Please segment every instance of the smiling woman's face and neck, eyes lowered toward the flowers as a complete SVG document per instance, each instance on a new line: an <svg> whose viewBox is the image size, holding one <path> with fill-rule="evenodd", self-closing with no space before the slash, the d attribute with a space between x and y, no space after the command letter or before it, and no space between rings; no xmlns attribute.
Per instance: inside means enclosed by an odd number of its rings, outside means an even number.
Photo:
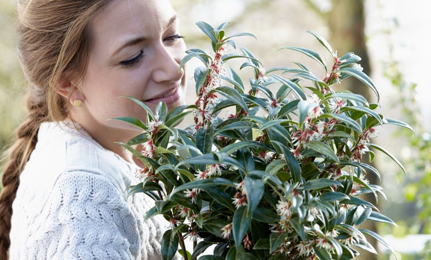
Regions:
<svg viewBox="0 0 431 260"><path fill-rule="evenodd" d="M141 100L153 111L160 101L168 109L184 104L186 80L179 64L186 47L178 24L168 0L113 0L94 17L88 67L72 94L84 105L72 115L96 140L136 130L111 118L145 121L144 110L120 96Z"/></svg>

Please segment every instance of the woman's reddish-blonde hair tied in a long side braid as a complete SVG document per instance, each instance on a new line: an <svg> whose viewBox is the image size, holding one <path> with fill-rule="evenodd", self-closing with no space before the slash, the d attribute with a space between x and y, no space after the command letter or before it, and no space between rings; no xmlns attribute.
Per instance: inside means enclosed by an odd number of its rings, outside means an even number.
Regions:
<svg viewBox="0 0 431 260"><path fill-rule="evenodd" d="M10 246L12 202L19 175L37 142L40 125L68 116L68 100L55 87L79 80L86 70L91 44L89 23L109 0L19 0L18 52L30 82L28 118L8 150L0 194L0 260Z"/></svg>

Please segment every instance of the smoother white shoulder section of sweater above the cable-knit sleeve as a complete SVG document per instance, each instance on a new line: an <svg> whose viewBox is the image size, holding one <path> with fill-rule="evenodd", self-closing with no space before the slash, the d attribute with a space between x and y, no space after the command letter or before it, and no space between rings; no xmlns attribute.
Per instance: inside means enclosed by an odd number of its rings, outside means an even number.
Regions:
<svg viewBox="0 0 431 260"><path fill-rule="evenodd" d="M74 187L83 182L83 178L90 177L93 181L110 182L125 198L125 191L131 184L132 169L84 131L67 125L44 123L39 130L36 148L21 173L15 202L33 204L37 213L56 186L67 181L70 187Z"/></svg>

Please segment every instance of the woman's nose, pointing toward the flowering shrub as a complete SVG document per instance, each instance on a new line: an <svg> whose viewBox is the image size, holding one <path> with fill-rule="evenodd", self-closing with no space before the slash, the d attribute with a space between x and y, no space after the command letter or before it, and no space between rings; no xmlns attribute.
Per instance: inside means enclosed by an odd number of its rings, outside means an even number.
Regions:
<svg viewBox="0 0 431 260"><path fill-rule="evenodd" d="M161 45L154 57L153 80L156 82L179 81L184 76L184 68L179 69L181 51Z"/></svg>

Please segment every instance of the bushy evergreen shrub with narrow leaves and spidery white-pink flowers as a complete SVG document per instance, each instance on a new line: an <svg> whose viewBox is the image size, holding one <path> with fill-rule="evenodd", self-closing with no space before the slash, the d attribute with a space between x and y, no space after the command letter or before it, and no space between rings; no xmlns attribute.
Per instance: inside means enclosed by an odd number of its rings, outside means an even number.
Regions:
<svg viewBox="0 0 431 260"><path fill-rule="evenodd" d="M265 69L233 41L253 35L227 36L227 23L216 29L197 25L214 54L192 49L181 62L203 63L194 73L196 103L170 112L160 103L153 112L131 98L146 110L146 123L118 118L143 132L122 143L145 164L138 171L142 183L129 194L154 199L145 219L162 214L170 222L163 259L172 259L178 249L185 259L197 259L210 246L213 256L199 259L351 259L358 255L355 248L376 253L367 236L393 251L381 236L361 228L366 220L394 224L360 197L383 194L367 180L379 172L362 159L373 159L374 148L404 170L372 140L376 128L386 124L411 128L385 118L377 103L361 95L332 89L353 76L378 102L377 88L358 65L361 58L337 57L319 34L308 31L331 54L332 65L310 49L283 49L316 61L323 79L301 63ZM239 53L231 53L235 50ZM243 60L239 69L251 72L249 82L241 80L238 68L227 67L232 59ZM226 109L231 112L221 116ZM189 114L194 125L175 128ZM135 144L142 151L131 147ZM184 246L187 237L194 240L193 250Z"/></svg>

